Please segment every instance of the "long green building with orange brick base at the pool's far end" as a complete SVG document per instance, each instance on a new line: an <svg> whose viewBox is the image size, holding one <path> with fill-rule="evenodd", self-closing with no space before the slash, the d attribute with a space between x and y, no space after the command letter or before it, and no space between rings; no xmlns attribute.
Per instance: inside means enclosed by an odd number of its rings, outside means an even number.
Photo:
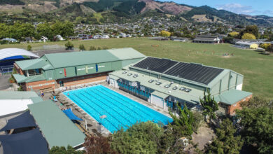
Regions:
<svg viewBox="0 0 273 154"><path fill-rule="evenodd" d="M133 48L45 54L38 59L14 63L16 83L24 90L52 91L106 80L108 73L143 59Z"/></svg>

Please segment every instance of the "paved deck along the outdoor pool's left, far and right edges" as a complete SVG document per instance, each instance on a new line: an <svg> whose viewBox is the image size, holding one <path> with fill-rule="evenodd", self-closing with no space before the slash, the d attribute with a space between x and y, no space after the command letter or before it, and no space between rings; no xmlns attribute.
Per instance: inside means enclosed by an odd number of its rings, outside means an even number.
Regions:
<svg viewBox="0 0 273 154"><path fill-rule="evenodd" d="M92 85L104 85L104 87L108 87L109 89L111 89L111 90L113 90L115 92L118 92L119 94L123 94L125 97L128 97L128 98L134 100L135 102L143 104L144 106L147 106L147 107L149 107L149 108L151 108L151 109L153 109L155 111L158 111L158 112L164 114L165 116L169 116L169 113L167 111L164 111L163 109L160 109L158 106L150 104L149 102L146 102L143 99L140 99L139 97L135 97L132 94L124 92L123 90L119 90L117 88L111 87L105 81L99 82L99 83L92 83L92 84L87 85L87 87L92 86ZM78 88L81 88L81 87L85 87L85 86L79 85L79 86L71 87L71 88L73 90L73 89L78 89ZM71 108L73 113L76 116L83 119L83 121L79 121L79 123L80 123L80 125L82 127L87 126L86 130L88 132L90 132L90 134L97 134L97 135L102 134L102 136L104 136L104 137L107 137L107 136L109 136L109 134L111 134L111 132L109 132L109 130L107 130L104 126L99 125L97 120L94 120L94 118L92 118L92 116L90 116L85 111L83 111L83 109L80 109L79 106L77 106L73 101L71 101L71 99L66 97L61 91L59 91L57 93L58 93L57 99L59 101L55 102L55 103L59 106L59 108L60 109ZM61 102L62 102L62 104L61 104ZM85 125L85 120L86 120L87 125Z"/></svg>

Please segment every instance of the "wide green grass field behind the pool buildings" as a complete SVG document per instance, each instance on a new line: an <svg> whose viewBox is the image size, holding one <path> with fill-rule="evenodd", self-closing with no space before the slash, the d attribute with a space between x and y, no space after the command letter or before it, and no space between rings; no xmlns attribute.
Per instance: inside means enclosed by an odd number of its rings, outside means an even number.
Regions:
<svg viewBox="0 0 273 154"><path fill-rule="evenodd" d="M31 43L35 49L42 45L64 45L66 42ZM132 47L144 55L165 57L181 62L195 62L209 66L232 69L244 75L243 90L254 95L273 99L273 56L262 55L254 50L233 48L230 44L181 43L176 41L152 41L147 38L113 38L107 40L72 41L78 48L81 43L85 48L90 45L125 48ZM27 43L0 45L0 48L27 48ZM234 56L223 56L228 53Z"/></svg>

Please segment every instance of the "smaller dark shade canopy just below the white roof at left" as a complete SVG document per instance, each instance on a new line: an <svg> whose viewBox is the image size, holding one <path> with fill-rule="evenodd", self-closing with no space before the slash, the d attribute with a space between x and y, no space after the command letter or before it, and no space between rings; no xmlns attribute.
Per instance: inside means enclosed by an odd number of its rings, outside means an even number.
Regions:
<svg viewBox="0 0 273 154"><path fill-rule="evenodd" d="M20 116L8 120L8 123L6 124L5 127L3 127L0 130L0 132L5 130L31 126L33 127L36 126L36 123L34 122L34 118L30 115L29 111L27 111L25 113L22 113Z"/></svg>

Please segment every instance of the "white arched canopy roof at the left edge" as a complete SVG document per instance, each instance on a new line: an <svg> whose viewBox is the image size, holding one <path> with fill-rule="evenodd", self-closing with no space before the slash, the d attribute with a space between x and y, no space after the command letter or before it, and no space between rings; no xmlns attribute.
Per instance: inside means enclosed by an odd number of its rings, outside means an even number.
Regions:
<svg viewBox="0 0 273 154"><path fill-rule="evenodd" d="M26 56L38 58L38 55L35 55L32 52L29 52L27 50L20 49L20 48L4 48L0 50L0 60L5 59L7 57L13 57L18 55L26 55Z"/></svg>

